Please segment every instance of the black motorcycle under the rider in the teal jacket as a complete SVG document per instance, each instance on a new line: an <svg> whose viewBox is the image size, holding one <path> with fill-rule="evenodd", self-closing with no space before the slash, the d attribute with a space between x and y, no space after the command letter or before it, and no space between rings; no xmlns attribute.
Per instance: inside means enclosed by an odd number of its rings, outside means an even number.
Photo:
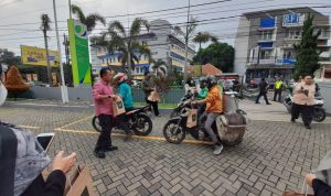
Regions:
<svg viewBox="0 0 331 196"><path fill-rule="evenodd" d="M127 124L130 130L135 132L137 135L148 135L152 131L153 123L147 112L151 110L151 106L145 106L142 108L138 108L131 111L128 111L125 113L127 121ZM92 126L93 128L100 132L102 127L99 124L98 118L95 116L92 119ZM120 128L115 128L120 129Z"/></svg>

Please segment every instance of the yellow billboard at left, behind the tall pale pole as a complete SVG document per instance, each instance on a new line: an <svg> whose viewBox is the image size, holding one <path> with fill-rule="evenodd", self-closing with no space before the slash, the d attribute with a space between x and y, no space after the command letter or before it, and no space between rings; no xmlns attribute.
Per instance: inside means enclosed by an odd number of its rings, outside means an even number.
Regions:
<svg viewBox="0 0 331 196"><path fill-rule="evenodd" d="M24 65L47 66L46 50L21 45L21 58ZM51 66L58 66L60 53L49 50Z"/></svg>

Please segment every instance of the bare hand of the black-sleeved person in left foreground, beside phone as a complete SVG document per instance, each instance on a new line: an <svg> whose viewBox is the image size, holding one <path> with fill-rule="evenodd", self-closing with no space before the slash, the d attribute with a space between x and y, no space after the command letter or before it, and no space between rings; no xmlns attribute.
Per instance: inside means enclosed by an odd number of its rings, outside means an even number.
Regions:
<svg viewBox="0 0 331 196"><path fill-rule="evenodd" d="M53 161L53 171L60 170L64 174L68 173L76 162L76 153L72 153L68 156L63 156L64 151L58 152Z"/></svg>

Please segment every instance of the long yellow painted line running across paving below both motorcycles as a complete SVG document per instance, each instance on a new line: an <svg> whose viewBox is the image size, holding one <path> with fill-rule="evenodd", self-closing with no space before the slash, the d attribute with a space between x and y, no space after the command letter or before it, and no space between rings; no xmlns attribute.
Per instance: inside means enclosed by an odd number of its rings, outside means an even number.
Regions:
<svg viewBox="0 0 331 196"><path fill-rule="evenodd" d="M72 132L72 133L87 133L87 134L98 134L96 131L87 131L87 130L72 130L72 129L54 129L55 131L61 131L61 132ZM114 137L125 137L125 134L121 133L111 133ZM143 140L158 140L158 141L166 141L164 138L162 137L139 137L139 135L132 135L132 138L137 139L143 139ZM199 141L199 140L184 140L184 143L191 143L191 144L206 144L211 145L212 142L209 141Z"/></svg>

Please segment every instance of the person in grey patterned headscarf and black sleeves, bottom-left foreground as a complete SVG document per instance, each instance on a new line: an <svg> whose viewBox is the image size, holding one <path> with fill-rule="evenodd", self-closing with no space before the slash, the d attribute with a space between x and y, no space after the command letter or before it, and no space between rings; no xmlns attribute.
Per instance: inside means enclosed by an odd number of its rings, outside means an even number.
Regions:
<svg viewBox="0 0 331 196"><path fill-rule="evenodd" d="M0 122L0 195L63 196L65 174L76 162L76 153L64 156L61 151L53 161L52 172L44 181L42 171L51 159L32 132Z"/></svg>

